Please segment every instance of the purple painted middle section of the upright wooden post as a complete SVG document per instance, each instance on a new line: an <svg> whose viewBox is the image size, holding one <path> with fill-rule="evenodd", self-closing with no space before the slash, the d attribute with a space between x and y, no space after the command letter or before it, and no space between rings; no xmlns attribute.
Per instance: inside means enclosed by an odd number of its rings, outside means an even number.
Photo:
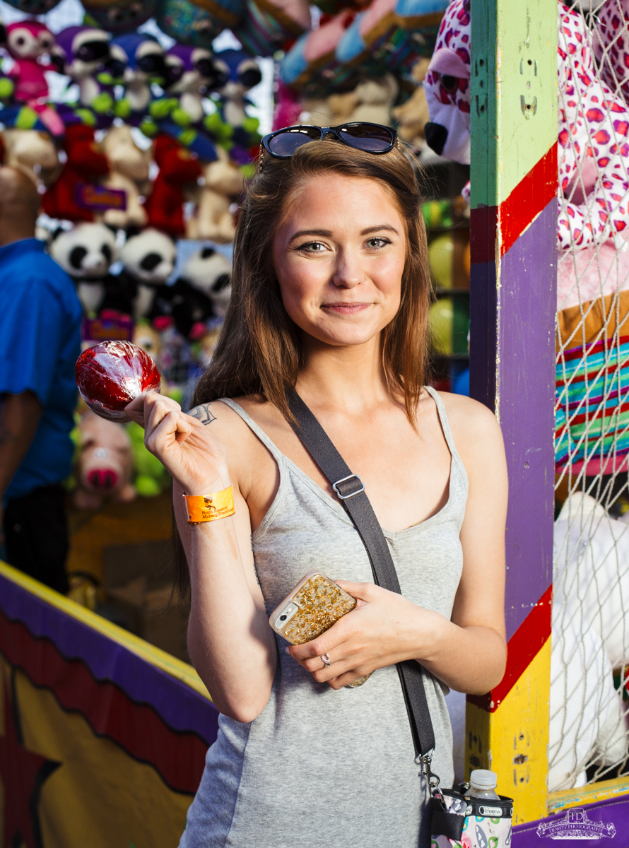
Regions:
<svg viewBox="0 0 629 848"><path fill-rule="evenodd" d="M496 410L509 466L507 639L553 579L556 232L553 199L498 275L470 275L470 394Z"/></svg>

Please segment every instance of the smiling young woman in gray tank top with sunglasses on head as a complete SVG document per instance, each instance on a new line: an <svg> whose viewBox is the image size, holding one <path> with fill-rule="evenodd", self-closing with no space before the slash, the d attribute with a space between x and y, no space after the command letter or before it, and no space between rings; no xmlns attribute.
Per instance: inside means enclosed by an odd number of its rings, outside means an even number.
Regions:
<svg viewBox="0 0 629 848"><path fill-rule="evenodd" d="M504 672L502 439L481 404L423 388L426 232L393 132L264 142L198 405L184 415L149 393L128 407L175 481L190 656L221 713L181 846L417 848L430 845L426 778L395 663L430 672L433 770L451 786L447 688L485 693ZM365 483L402 595L374 585L293 432L292 387ZM230 486L233 517L188 525L183 494ZM268 616L314 570L359 603L287 648Z"/></svg>

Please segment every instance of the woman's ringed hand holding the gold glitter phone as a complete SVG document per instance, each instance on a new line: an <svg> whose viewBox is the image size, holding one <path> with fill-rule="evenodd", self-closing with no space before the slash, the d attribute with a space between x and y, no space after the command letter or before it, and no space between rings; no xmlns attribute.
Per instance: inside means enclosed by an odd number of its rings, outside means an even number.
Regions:
<svg viewBox="0 0 629 848"><path fill-rule="evenodd" d="M329 683L332 689L397 662L430 660L432 647L453 626L439 613L373 583L335 583L356 598L356 607L317 639L286 649L318 683ZM324 654L329 667L321 660Z"/></svg>

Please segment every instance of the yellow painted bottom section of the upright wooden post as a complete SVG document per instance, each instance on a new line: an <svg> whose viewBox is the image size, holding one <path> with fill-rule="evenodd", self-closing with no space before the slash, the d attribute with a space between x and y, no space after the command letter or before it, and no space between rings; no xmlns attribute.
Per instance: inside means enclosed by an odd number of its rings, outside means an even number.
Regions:
<svg viewBox="0 0 629 848"><path fill-rule="evenodd" d="M515 801L514 823L547 815L550 639L495 712L468 703L465 777L498 775L498 793Z"/></svg>

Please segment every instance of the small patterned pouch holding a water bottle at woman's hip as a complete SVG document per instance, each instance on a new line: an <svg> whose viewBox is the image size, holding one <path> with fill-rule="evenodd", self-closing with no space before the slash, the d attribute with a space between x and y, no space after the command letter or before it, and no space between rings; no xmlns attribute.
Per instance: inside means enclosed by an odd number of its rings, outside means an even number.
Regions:
<svg viewBox="0 0 629 848"><path fill-rule="evenodd" d="M475 798L454 789L439 789L432 796L432 829L439 826L440 817L454 813L462 819L458 838L433 836L431 848L509 848L513 799L500 795L499 801ZM450 819L451 820L451 819Z"/></svg>

